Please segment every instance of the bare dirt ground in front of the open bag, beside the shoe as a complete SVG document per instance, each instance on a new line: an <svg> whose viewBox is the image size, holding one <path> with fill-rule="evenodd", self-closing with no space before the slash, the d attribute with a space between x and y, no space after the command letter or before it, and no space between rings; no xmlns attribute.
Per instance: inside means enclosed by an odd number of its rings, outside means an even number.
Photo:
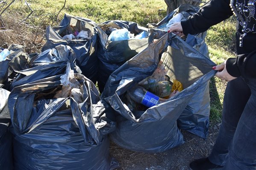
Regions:
<svg viewBox="0 0 256 170"><path fill-rule="evenodd" d="M209 155L220 125L220 123L211 123L206 139L182 130L185 144L163 153L138 153L111 143L110 153L118 159L120 164L120 167L115 170L188 170L191 161Z"/></svg>

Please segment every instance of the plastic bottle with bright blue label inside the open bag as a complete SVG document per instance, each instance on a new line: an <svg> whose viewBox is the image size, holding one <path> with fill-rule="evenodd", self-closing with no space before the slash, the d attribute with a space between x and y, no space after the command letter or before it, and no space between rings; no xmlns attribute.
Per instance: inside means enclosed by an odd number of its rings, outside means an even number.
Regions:
<svg viewBox="0 0 256 170"><path fill-rule="evenodd" d="M132 100L141 103L148 108L166 101L166 99L162 99L159 96L150 93L141 86L135 86L134 88L130 89L128 93Z"/></svg>

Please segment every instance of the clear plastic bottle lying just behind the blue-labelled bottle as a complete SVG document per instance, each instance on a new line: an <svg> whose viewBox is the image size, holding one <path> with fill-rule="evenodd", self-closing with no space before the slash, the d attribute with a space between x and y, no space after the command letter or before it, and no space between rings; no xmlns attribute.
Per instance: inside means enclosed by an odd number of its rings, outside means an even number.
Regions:
<svg viewBox="0 0 256 170"><path fill-rule="evenodd" d="M171 94L171 85L168 81L161 81L161 82L153 82L147 85L141 85L146 90L150 91L156 96L165 97L170 96Z"/></svg>

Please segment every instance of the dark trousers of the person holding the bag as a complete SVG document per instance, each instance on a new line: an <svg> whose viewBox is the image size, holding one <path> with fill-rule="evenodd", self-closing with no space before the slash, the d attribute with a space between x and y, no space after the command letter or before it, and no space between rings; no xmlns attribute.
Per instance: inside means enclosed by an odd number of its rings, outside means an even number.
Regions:
<svg viewBox="0 0 256 170"><path fill-rule="evenodd" d="M223 170L256 170L256 79L227 83L222 124L209 160Z"/></svg>

